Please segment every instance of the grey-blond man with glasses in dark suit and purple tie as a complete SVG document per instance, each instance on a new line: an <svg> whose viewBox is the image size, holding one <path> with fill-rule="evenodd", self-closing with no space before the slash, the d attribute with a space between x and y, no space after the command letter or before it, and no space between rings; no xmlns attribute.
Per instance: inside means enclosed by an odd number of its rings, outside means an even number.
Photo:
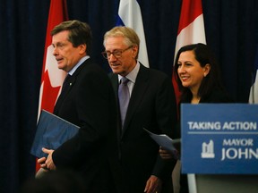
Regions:
<svg viewBox="0 0 258 193"><path fill-rule="evenodd" d="M143 128L173 137L176 125L176 98L171 79L161 71L146 68L137 61L140 40L133 29L115 27L104 36L105 52L113 74L110 75L122 116L117 130L119 158L125 192L173 192L171 172L175 160L159 156L159 145ZM126 84L121 80L126 78ZM121 85L129 90L126 105L118 96ZM126 96L123 96L124 100ZM124 122L125 119L125 122Z"/></svg>

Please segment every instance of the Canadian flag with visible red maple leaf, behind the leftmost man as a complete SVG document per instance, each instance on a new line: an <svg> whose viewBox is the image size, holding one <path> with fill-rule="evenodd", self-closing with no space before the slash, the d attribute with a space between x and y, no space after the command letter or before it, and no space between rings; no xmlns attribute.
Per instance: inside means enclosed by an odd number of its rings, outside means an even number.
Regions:
<svg viewBox="0 0 258 193"><path fill-rule="evenodd" d="M66 0L51 0L48 13L45 53L39 91L38 119L42 109L53 113L56 99L60 94L60 88L64 81L66 73L57 68L56 59L54 55L52 55L53 46L50 31L54 29L57 24L67 20L68 14ZM36 170L39 170L39 165L36 165Z"/></svg>

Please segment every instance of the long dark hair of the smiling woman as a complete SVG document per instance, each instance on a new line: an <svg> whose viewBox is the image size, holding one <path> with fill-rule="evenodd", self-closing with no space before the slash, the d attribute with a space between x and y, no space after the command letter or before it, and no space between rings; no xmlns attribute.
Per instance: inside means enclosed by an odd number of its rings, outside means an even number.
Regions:
<svg viewBox="0 0 258 193"><path fill-rule="evenodd" d="M186 51L193 51L193 54L195 56L195 59L200 63L202 67L204 67L207 63L211 65L211 70L209 74L203 78L201 86L198 90L198 96L205 97L209 96L211 94L211 91L214 87L216 88L223 88L221 79L220 79L220 73L219 73L219 65L215 59L215 56L211 52L211 49L209 46L204 44L192 44L183 46L179 49L179 51L176 54L176 60L175 60L175 67L174 67L174 76L178 85L178 88L181 91L181 101L185 100L186 98L192 98L192 93L189 88L185 88L182 85L181 80L179 79L177 69L178 69L178 59L181 53ZM224 88L223 88L224 89Z"/></svg>

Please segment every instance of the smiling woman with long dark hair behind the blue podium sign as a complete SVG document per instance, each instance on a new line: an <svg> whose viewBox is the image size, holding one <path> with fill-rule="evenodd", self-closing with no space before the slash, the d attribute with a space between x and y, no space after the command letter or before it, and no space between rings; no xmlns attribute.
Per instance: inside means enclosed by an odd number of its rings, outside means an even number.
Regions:
<svg viewBox="0 0 258 193"><path fill-rule="evenodd" d="M210 48L204 44L183 46L176 55L174 76L181 92L180 104L190 103L232 103L222 86L219 65ZM180 126L177 127L176 138L180 138ZM167 150L159 148L163 159L173 156ZM188 192L185 174L180 177L180 193Z"/></svg>

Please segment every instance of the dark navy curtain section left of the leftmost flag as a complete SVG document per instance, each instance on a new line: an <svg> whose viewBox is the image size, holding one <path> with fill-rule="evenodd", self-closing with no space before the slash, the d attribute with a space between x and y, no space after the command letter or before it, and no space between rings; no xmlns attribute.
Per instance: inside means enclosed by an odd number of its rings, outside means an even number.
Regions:
<svg viewBox="0 0 258 193"><path fill-rule="evenodd" d="M49 1L0 1L0 192L17 192L35 168L29 149L37 122Z"/></svg>

